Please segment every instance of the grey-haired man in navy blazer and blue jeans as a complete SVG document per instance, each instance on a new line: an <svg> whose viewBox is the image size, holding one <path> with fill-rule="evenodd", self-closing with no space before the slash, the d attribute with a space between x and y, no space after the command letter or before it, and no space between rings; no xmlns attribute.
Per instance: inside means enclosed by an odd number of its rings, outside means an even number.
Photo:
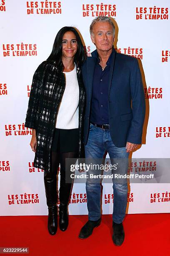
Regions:
<svg viewBox="0 0 170 256"><path fill-rule="evenodd" d="M92 20L90 35L96 50L82 67L86 90L85 157L102 159L107 151L110 159L128 159L129 152L141 144L145 119L145 97L138 60L119 54L113 48L115 26L111 18ZM127 161L124 163L121 174L128 170ZM89 220L82 227L79 238L90 236L93 228L101 222L100 183L87 179L86 192ZM123 243L125 236L122 221L127 192L126 179L113 183L112 240L117 246Z"/></svg>

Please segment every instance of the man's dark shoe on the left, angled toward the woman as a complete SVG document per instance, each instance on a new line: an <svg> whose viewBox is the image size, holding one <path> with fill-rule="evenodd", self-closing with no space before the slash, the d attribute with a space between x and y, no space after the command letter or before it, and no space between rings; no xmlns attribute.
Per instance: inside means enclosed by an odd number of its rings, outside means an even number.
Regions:
<svg viewBox="0 0 170 256"><path fill-rule="evenodd" d="M101 218L99 220L88 220L87 223L80 230L79 238L84 239L92 234L95 227L98 227L101 223Z"/></svg>

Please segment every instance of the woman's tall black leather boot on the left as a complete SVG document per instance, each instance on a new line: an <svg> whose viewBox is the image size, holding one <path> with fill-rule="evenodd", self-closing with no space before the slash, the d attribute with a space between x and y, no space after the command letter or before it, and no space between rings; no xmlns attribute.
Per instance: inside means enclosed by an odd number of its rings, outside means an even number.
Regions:
<svg viewBox="0 0 170 256"><path fill-rule="evenodd" d="M48 206L48 231L50 235L57 232L57 177L44 173L45 195Z"/></svg>

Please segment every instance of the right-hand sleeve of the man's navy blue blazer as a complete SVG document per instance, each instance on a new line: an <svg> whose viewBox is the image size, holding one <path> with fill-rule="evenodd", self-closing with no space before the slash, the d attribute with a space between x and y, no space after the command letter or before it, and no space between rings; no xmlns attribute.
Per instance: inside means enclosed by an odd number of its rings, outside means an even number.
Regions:
<svg viewBox="0 0 170 256"><path fill-rule="evenodd" d="M130 92L132 98L133 118L128 131L127 141L142 143L143 123L145 120L145 94L138 60L134 59L130 75Z"/></svg>

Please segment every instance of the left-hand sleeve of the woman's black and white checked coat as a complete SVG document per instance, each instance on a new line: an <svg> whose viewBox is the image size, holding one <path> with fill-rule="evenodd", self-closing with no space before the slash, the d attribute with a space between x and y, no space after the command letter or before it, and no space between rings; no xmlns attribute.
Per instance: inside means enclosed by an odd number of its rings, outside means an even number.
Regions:
<svg viewBox="0 0 170 256"><path fill-rule="evenodd" d="M42 64L40 64L33 75L30 98L28 102L28 110L25 120L25 127L32 129L36 129L38 102L41 88L41 68Z"/></svg>

